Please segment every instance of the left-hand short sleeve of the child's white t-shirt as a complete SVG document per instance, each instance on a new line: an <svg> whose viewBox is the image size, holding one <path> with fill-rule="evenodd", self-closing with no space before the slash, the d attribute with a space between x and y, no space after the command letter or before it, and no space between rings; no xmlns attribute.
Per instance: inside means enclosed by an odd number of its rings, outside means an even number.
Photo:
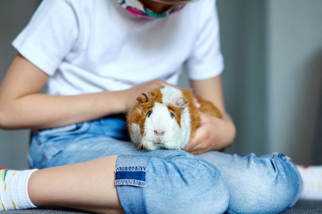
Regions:
<svg viewBox="0 0 322 214"><path fill-rule="evenodd" d="M78 34L73 6L64 0L43 0L12 45L32 64L53 75Z"/></svg>

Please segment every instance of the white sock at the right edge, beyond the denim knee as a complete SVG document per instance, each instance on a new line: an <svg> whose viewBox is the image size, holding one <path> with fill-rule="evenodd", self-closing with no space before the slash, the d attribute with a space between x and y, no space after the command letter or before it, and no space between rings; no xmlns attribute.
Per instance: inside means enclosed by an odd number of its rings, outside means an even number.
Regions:
<svg viewBox="0 0 322 214"><path fill-rule="evenodd" d="M296 166L303 181L300 199L322 200L322 166Z"/></svg>

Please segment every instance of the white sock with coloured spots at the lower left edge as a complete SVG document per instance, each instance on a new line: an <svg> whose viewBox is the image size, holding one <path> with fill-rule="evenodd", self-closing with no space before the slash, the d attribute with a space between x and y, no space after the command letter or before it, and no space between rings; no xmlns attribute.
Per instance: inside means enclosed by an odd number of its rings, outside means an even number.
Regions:
<svg viewBox="0 0 322 214"><path fill-rule="evenodd" d="M30 170L0 170L0 210L35 208L28 196Z"/></svg>

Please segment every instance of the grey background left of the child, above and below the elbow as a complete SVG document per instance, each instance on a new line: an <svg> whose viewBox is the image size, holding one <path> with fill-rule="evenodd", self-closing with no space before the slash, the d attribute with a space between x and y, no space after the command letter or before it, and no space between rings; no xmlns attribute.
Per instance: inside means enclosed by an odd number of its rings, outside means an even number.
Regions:
<svg viewBox="0 0 322 214"><path fill-rule="evenodd" d="M14 37L28 23L39 1L5 0L0 1L0 81L17 54L11 46ZM0 165L24 169L28 167L28 130L0 129Z"/></svg>

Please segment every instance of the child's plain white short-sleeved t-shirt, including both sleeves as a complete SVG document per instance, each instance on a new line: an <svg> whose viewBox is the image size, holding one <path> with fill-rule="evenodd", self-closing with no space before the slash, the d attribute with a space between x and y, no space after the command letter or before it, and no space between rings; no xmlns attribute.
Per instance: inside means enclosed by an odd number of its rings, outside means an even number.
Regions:
<svg viewBox="0 0 322 214"><path fill-rule="evenodd" d="M44 0L13 46L47 73L48 93L124 90L160 79L204 80L223 70L216 1L149 20L116 0Z"/></svg>

